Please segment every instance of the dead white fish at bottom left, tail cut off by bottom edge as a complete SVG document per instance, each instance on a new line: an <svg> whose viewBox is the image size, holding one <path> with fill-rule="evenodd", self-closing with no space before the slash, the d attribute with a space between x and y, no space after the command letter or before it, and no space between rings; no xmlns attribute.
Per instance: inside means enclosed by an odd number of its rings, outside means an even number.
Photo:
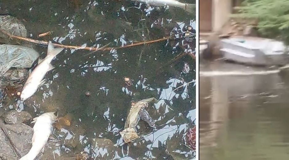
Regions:
<svg viewBox="0 0 289 160"><path fill-rule="evenodd" d="M35 122L33 126L32 147L30 151L19 160L34 160L43 150L47 140L52 133L52 124L56 121L57 112L47 112L39 117L33 118Z"/></svg>

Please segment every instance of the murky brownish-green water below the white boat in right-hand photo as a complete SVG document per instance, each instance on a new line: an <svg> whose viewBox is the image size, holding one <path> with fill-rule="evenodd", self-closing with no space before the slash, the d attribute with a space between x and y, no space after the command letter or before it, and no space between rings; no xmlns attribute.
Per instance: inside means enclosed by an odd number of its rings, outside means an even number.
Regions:
<svg viewBox="0 0 289 160"><path fill-rule="evenodd" d="M245 76L209 76L208 71ZM200 159L287 159L288 73L224 62L200 66ZM219 72L221 73L221 72Z"/></svg>

